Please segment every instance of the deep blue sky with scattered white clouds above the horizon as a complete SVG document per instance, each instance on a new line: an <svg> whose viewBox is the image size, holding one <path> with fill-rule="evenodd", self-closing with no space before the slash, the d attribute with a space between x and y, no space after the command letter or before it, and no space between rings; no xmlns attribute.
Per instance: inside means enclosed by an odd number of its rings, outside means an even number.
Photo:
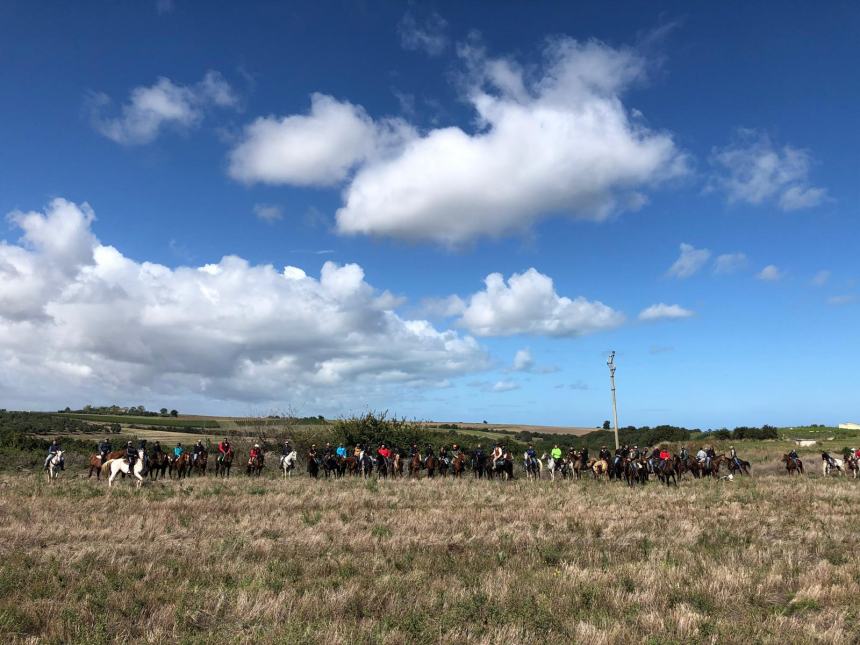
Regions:
<svg viewBox="0 0 860 645"><path fill-rule="evenodd" d="M860 10L577 4L3 3L0 405L856 419Z"/></svg>

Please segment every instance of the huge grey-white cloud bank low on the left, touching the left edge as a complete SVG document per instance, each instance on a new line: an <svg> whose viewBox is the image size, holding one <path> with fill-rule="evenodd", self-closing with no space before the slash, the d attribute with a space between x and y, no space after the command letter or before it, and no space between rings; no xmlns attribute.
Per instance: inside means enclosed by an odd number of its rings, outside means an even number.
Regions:
<svg viewBox="0 0 860 645"><path fill-rule="evenodd" d="M236 256L170 268L100 243L86 205L57 199L11 220L23 236L0 244L7 400L361 405L378 388L488 365L472 337L399 316L356 264L326 262L319 277Z"/></svg>

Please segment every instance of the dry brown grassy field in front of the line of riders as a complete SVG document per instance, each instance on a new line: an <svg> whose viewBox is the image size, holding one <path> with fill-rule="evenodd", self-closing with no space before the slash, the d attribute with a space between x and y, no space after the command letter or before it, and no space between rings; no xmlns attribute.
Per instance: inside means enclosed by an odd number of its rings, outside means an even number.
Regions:
<svg viewBox="0 0 860 645"><path fill-rule="evenodd" d="M0 474L0 642L856 643L860 480ZM718 446L718 449L727 446Z"/></svg>

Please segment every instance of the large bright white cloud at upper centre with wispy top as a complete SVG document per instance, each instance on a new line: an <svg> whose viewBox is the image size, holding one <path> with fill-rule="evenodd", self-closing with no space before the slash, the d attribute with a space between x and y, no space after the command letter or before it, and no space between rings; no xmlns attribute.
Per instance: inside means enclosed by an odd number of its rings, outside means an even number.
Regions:
<svg viewBox="0 0 860 645"><path fill-rule="evenodd" d="M231 175L345 181L339 232L456 245L523 230L550 214L602 220L635 210L646 191L687 172L672 137L622 102L645 76L633 50L559 38L533 73L476 47L462 47L461 56L472 130L419 133L315 95L309 115L248 126L231 154Z"/></svg>

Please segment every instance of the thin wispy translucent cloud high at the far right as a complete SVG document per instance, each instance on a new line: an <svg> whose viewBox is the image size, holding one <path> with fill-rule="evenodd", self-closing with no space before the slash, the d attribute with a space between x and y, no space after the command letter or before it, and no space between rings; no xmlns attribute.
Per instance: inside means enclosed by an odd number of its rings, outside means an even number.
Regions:
<svg viewBox="0 0 860 645"><path fill-rule="evenodd" d="M828 199L827 190L810 184L812 157L789 145L776 147L764 134L741 130L738 140L713 151L710 187L730 203L775 203L786 211L812 208Z"/></svg>

